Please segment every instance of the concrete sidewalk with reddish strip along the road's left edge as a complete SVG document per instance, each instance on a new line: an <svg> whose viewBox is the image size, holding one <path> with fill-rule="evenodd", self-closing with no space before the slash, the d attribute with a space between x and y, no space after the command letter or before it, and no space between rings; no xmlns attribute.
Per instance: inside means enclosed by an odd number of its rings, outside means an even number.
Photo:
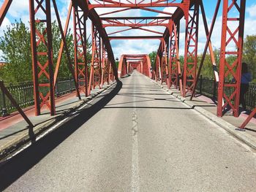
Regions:
<svg viewBox="0 0 256 192"><path fill-rule="evenodd" d="M91 95L86 97L81 94L81 100L75 96L75 93L69 93L67 96L62 96L60 99L56 99L56 115L50 116L49 111L44 108L42 115L34 115L34 107L25 109L25 113L28 116L34 128L28 127L28 124L23 120L22 116L15 112L9 117L0 119L0 161L7 158L8 155L19 149L27 142L31 142L34 137L42 134L48 130L51 126L64 119L70 113L77 110L83 104L93 99L102 91L105 91L116 82L112 82L110 85L103 85L102 89L94 89L91 91ZM33 142L33 141L32 141Z"/></svg>

